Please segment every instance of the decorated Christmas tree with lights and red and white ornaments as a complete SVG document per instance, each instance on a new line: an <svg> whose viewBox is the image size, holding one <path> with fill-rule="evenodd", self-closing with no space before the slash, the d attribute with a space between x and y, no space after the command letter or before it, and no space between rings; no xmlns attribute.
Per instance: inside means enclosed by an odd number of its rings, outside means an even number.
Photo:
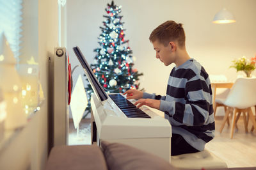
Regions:
<svg viewBox="0 0 256 170"><path fill-rule="evenodd" d="M102 33L99 36L100 47L94 51L97 53L95 64L90 65L98 81L108 93L124 93L128 89L138 89L139 76L134 65L132 50L129 47L129 40L125 40L124 22L120 16L122 6L116 6L112 1L105 9L107 15L103 21ZM90 112L90 97L93 93L92 86L86 88L88 107L86 113ZM86 114L86 115L87 115Z"/></svg>

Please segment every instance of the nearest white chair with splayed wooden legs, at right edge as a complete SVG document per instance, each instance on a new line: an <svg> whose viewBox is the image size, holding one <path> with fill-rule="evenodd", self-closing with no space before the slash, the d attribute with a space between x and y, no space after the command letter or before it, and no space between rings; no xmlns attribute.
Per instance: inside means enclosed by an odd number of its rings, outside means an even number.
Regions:
<svg viewBox="0 0 256 170"><path fill-rule="evenodd" d="M256 128L256 121L251 109L251 107L256 105L256 78L237 79L223 104L226 105L228 109L225 113L220 132L222 132L229 114L233 114L230 138L233 138L234 127L241 114L243 114L244 128L246 132L248 132L249 120L252 121L253 127Z"/></svg>

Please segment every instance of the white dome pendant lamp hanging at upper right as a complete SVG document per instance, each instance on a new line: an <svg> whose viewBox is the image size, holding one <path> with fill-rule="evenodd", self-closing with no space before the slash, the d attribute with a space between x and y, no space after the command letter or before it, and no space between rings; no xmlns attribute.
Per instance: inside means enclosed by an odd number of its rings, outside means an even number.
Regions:
<svg viewBox="0 0 256 170"><path fill-rule="evenodd" d="M223 8L220 12L216 13L212 22L214 24L228 24L236 22L236 19L232 13Z"/></svg>

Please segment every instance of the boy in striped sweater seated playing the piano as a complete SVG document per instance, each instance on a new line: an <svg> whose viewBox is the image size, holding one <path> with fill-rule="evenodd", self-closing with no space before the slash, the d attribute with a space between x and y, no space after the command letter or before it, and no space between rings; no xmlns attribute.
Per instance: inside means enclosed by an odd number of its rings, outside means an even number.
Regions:
<svg viewBox="0 0 256 170"><path fill-rule="evenodd" d="M214 137L211 82L204 68L191 59L185 47L182 24L168 20L150 34L156 58L164 65L175 63L170 73L166 96L125 91L127 99L139 99L134 105L159 109L172 125L171 155L204 150Z"/></svg>

